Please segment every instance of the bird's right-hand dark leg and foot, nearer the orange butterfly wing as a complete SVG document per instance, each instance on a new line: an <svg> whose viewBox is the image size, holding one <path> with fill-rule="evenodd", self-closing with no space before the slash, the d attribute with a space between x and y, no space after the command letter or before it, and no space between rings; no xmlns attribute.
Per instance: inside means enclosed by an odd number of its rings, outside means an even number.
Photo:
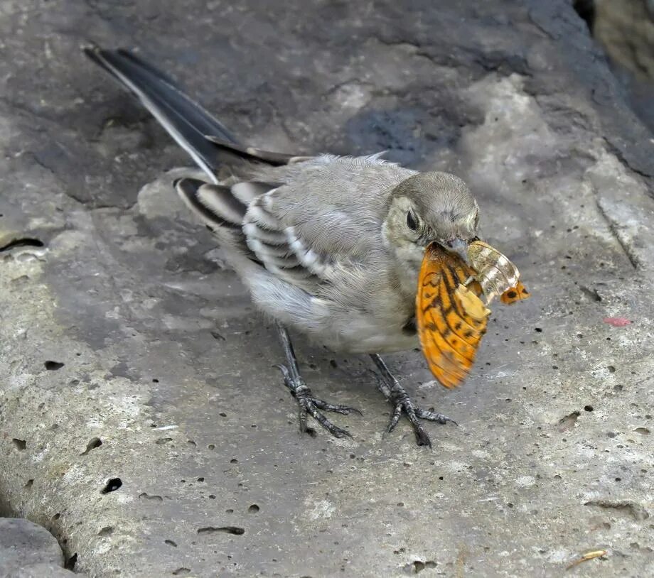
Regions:
<svg viewBox="0 0 654 578"><path fill-rule="evenodd" d="M402 410L407 415L409 422L413 427L413 431L416 435L416 442L418 445L428 445L431 447L431 440L429 435L424 431L421 423L418 420L429 420L432 422L447 423L452 422L456 425L456 422L451 418L448 418L442 413L434 413L431 411L423 410L419 408L413 400L409 397L409 394L404 391L404 388L400 386L400 382L397 381L395 376L389 371L388 367L384 363L384 360L378 354L370 354L372 361L375 362L377 369L379 369L382 374L379 383L380 391L384 394L385 398L393 404L393 415L390 418L390 423L386 428L386 432L390 433L395 429L397 422L400 421L400 416L402 415Z"/></svg>

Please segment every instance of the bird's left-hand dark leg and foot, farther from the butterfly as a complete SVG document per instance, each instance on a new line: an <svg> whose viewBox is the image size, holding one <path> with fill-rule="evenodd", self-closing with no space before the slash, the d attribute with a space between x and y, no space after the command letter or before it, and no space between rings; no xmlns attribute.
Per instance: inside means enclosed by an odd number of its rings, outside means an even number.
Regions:
<svg viewBox="0 0 654 578"><path fill-rule="evenodd" d="M309 414L311 417L316 420L322 427L324 427L331 435L336 437L348 436L352 437L352 434L347 430L341 429L337 425L334 425L329 421L321 412L323 411L334 411L336 413L343 413L348 415L350 411L355 411L358 414L361 412L358 409L350 408L348 405L337 405L334 403L327 403L321 399L318 399L313 396L309 386L306 385L304 379L300 376L300 371L297 366L297 359L295 356L295 351L293 350L293 344L291 344L291 337L289 332L286 331L286 327L283 325L277 324L277 329L279 331L279 337L282 339L282 347L284 347L284 354L286 354L286 366L278 365L280 371L282 371L282 376L284 376L284 383L286 387L291 390L294 398L296 398L299 406L299 421L300 421L300 431L309 432L311 431L306 425L306 416Z"/></svg>

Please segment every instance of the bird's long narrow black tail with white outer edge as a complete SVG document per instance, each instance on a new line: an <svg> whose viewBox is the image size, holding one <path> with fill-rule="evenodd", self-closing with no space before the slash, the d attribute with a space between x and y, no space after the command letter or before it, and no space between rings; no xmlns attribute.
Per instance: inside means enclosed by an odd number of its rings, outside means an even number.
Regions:
<svg viewBox="0 0 654 578"><path fill-rule="evenodd" d="M194 102L163 72L128 50L85 48L86 55L107 70L161 123L171 136L216 180L220 148L205 136L236 144L236 139L220 121Z"/></svg>

